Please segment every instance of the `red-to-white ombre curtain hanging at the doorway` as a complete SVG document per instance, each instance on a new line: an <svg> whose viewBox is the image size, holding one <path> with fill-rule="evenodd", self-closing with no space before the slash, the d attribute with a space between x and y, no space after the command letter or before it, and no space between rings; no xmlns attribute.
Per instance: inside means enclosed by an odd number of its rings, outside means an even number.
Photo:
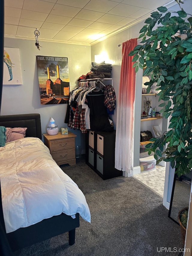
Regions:
<svg viewBox="0 0 192 256"><path fill-rule="evenodd" d="M122 65L117 105L115 168L125 171L124 176L133 174L133 140L134 140L134 100L135 68L132 68L134 56L128 54L137 45L137 38L122 43Z"/></svg>

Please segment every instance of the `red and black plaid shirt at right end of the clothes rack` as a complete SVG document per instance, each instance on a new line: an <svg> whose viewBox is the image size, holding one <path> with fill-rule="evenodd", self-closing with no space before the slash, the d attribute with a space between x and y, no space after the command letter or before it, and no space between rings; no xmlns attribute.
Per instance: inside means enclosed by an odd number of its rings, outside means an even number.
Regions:
<svg viewBox="0 0 192 256"><path fill-rule="evenodd" d="M112 85L109 84L105 86L104 95L105 107L107 107L110 111L114 110L116 105L116 95Z"/></svg>

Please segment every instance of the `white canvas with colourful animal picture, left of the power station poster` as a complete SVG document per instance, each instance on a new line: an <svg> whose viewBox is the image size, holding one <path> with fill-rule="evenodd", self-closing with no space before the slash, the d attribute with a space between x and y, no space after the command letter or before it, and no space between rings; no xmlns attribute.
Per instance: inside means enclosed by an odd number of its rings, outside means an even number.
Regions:
<svg viewBox="0 0 192 256"><path fill-rule="evenodd" d="M3 62L3 85L21 85L19 49L4 47Z"/></svg>

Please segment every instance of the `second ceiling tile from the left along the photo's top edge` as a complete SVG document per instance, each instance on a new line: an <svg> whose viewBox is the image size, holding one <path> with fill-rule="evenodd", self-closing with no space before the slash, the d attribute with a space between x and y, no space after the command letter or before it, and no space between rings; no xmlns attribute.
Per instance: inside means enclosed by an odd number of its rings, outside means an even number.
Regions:
<svg viewBox="0 0 192 256"><path fill-rule="evenodd" d="M23 4L23 9L29 11L38 11L42 13L50 13L54 5L54 3L45 3L44 1L39 0L25 0Z"/></svg>

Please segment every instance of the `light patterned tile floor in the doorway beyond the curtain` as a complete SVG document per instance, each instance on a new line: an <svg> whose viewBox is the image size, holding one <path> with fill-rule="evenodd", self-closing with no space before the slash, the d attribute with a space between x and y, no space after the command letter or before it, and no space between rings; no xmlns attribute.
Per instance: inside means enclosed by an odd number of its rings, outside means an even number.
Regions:
<svg viewBox="0 0 192 256"><path fill-rule="evenodd" d="M134 175L134 178L140 180L153 191L155 191L155 193L163 197L165 183L165 167L157 165L155 170L136 174Z"/></svg>

